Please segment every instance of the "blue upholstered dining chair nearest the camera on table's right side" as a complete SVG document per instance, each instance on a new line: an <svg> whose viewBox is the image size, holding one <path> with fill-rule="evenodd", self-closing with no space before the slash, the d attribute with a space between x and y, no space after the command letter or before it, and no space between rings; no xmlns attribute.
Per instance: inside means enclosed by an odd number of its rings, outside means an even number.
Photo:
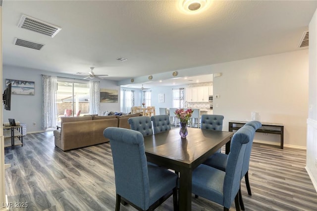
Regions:
<svg viewBox="0 0 317 211"><path fill-rule="evenodd" d="M233 200L240 211L239 190L247 144L252 141L254 128L244 126L232 137L226 171L201 164L192 175L192 192L223 206L228 211Z"/></svg>

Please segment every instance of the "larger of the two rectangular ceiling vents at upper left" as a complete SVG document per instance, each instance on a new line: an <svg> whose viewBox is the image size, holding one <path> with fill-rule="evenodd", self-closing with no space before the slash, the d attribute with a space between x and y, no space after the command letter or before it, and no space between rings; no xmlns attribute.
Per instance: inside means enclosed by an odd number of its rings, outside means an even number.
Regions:
<svg viewBox="0 0 317 211"><path fill-rule="evenodd" d="M54 37L61 30L61 28L58 26L54 26L50 23L46 23L26 15L22 15L18 27L38 32L50 37Z"/></svg>

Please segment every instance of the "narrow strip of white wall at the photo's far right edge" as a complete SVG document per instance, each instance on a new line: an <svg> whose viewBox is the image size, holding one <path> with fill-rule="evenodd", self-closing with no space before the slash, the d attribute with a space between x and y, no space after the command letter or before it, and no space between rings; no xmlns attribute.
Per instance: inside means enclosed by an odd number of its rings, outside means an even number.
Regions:
<svg viewBox="0 0 317 211"><path fill-rule="evenodd" d="M317 191L317 10L309 24L309 107L306 169Z"/></svg>

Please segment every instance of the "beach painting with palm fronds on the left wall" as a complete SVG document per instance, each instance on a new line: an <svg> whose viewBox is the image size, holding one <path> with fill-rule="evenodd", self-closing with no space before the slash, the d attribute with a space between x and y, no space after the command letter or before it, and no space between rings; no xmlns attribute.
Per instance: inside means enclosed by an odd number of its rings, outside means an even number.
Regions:
<svg viewBox="0 0 317 211"><path fill-rule="evenodd" d="M5 86L11 84L12 95L35 95L34 81L5 79Z"/></svg>

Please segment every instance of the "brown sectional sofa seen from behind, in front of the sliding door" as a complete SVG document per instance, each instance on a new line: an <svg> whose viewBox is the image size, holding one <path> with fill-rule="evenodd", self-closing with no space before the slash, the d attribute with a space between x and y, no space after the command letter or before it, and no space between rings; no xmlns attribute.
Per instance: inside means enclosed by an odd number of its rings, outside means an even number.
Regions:
<svg viewBox="0 0 317 211"><path fill-rule="evenodd" d="M104 137L104 130L107 127L130 129L128 119L141 115L141 113L135 113L122 116L61 117L60 129L53 131L55 146L63 151L68 151L106 143L109 141Z"/></svg>

